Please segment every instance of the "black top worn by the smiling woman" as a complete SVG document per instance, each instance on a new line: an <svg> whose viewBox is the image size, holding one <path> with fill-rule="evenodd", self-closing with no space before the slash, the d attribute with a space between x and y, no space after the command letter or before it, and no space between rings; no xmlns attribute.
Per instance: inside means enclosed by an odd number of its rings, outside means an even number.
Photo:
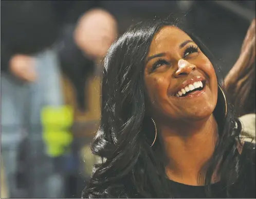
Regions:
<svg viewBox="0 0 256 199"><path fill-rule="evenodd" d="M245 142L241 154L244 169L236 181L231 185L231 198L255 198L255 144ZM192 186L169 181L175 191L175 198L206 198L205 186ZM211 185L214 198L227 198L225 185L218 182Z"/></svg>

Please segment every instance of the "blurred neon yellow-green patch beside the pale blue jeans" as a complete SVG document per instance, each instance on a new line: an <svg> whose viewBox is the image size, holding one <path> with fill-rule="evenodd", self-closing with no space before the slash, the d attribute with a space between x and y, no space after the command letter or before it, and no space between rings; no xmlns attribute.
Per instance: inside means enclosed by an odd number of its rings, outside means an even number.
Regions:
<svg viewBox="0 0 256 199"><path fill-rule="evenodd" d="M73 136L70 127L73 124L73 112L70 106L43 108L41 112L43 139L49 156L62 155L71 144Z"/></svg>

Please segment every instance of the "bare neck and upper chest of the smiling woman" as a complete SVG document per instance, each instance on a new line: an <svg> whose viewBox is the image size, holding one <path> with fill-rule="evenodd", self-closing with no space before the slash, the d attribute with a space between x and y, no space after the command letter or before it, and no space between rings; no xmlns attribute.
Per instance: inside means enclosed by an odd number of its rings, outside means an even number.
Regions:
<svg viewBox="0 0 256 199"><path fill-rule="evenodd" d="M204 181L198 182L198 175L204 179L218 135L214 116L191 124L161 125L160 132L168 158L168 177L183 184L203 185Z"/></svg>

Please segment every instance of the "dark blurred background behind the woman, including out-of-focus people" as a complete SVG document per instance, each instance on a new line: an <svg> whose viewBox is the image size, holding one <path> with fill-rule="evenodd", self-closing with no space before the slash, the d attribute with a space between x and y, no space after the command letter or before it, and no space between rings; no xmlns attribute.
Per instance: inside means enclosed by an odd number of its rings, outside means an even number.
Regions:
<svg viewBox="0 0 256 199"><path fill-rule="evenodd" d="M159 17L200 37L225 77L255 1L1 1L1 197L81 198L104 49Z"/></svg>

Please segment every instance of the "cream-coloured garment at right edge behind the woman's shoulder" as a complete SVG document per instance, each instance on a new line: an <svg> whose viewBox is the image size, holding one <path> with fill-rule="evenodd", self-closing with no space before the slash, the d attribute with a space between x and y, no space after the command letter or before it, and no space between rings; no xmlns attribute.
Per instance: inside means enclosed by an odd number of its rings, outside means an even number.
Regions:
<svg viewBox="0 0 256 199"><path fill-rule="evenodd" d="M252 142L255 143L255 119L255 113L246 114L239 117L243 128L242 136L245 137L244 141L251 142L253 138Z"/></svg>

